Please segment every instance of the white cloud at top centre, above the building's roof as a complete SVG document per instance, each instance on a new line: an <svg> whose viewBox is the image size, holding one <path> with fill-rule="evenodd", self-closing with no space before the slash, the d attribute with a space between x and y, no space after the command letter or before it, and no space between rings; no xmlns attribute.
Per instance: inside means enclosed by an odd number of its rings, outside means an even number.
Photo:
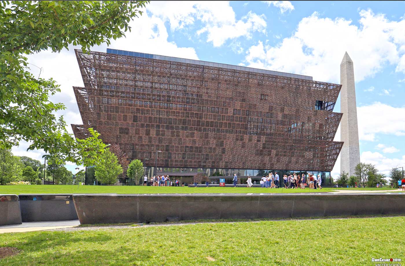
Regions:
<svg viewBox="0 0 405 266"><path fill-rule="evenodd" d="M222 46L227 40L244 36L252 38L253 32L266 33L266 17L249 11L240 20L228 1L168 1L151 2L147 12L169 21L171 30L181 30L198 20L202 27L196 31L198 36L207 34L207 42Z"/></svg>

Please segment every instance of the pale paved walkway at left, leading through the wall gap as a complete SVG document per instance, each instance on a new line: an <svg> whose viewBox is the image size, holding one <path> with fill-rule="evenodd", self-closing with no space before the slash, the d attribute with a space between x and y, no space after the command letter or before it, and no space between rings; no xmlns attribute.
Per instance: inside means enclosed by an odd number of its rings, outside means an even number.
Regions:
<svg viewBox="0 0 405 266"><path fill-rule="evenodd" d="M79 220L50 221L50 222L24 222L22 224L0 226L0 234L68 228L68 227L78 226L79 224L80 224Z"/></svg>

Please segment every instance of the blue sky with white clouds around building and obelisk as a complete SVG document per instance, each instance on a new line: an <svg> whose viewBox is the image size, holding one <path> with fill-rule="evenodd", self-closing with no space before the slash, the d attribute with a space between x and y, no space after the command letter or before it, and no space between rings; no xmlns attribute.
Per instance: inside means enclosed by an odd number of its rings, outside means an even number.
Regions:
<svg viewBox="0 0 405 266"><path fill-rule="evenodd" d="M151 1L109 48L312 76L340 84L345 51L354 62L360 160L381 173L405 166L405 2ZM82 124L72 86L83 86L74 49L28 56L31 72L53 78L70 124ZM107 44L92 51L106 52ZM334 109L340 111L340 98ZM68 127L70 133L72 129ZM340 127L335 141L340 140ZM29 144L15 155L42 160ZM67 163L75 173L77 167ZM83 169L83 167L79 167ZM337 178L340 157L332 171Z"/></svg>

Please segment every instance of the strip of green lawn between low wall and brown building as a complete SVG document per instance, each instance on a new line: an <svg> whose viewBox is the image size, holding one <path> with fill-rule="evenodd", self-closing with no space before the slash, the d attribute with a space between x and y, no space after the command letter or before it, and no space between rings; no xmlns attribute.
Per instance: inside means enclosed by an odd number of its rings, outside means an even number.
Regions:
<svg viewBox="0 0 405 266"><path fill-rule="evenodd" d="M73 194L73 193L297 193L330 192L329 188L281 189L281 188L189 188L189 187L155 187L155 186L78 186L77 185L8 185L0 186L0 194Z"/></svg>

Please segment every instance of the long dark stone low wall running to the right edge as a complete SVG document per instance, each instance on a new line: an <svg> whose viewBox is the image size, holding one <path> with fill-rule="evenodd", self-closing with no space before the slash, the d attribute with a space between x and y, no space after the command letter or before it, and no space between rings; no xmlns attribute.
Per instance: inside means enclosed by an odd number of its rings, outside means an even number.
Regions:
<svg viewBox="0 0 405 266"><path fill-rule="evenodd" d="M405 214L405 194L73 195L81 224Z"/></svg>

